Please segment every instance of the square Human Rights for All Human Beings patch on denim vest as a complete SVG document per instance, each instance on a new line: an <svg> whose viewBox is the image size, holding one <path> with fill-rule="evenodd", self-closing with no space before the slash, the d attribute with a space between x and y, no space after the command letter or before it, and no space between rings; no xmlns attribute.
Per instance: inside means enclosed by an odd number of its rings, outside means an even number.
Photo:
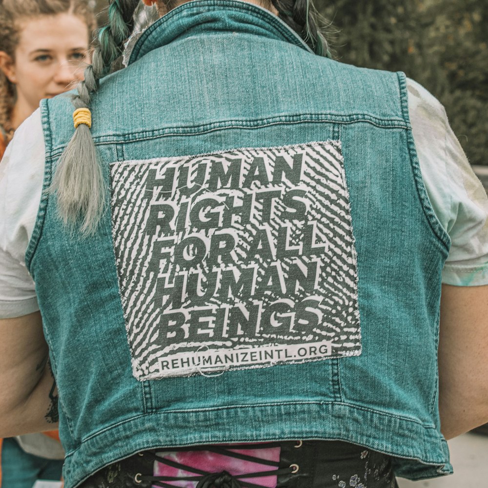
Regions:
<svg viewBox="0 0 488 488"><path fill-rule="evenodd" d="M139 380L361 354L340 141L111 164Z"/></svg>

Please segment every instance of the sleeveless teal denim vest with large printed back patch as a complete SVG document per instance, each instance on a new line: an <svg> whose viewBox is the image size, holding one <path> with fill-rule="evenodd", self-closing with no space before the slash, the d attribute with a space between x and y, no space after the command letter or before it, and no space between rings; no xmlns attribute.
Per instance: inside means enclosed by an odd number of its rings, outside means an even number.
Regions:
<svg viewBox="0 0 488 488"><path fill-rule="evenodd" d="M41 104L44 187L73 134ZM441 269L402 73L314 55L240 1L152 25L92 103L107 211L43 194L26 263L60 394L66 488L142 449L342 439L451 472Z"/></svg>

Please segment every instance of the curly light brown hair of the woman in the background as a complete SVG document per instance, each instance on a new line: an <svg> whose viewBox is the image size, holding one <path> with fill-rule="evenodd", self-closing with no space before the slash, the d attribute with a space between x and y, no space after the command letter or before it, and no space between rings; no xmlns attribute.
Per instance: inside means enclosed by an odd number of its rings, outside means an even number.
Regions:
<svg viewBox="0 0 488 488"><path fill-rule="evenodd" d="M0 1L0 51L15 60L15 51L20 41L22 20L41 16L69 13L86 24L89 37L95 29L95 16L85 0L2 0ZM13 135L12 110L16 100L16 88L0 71L0 126L7 142Z"/></svg>

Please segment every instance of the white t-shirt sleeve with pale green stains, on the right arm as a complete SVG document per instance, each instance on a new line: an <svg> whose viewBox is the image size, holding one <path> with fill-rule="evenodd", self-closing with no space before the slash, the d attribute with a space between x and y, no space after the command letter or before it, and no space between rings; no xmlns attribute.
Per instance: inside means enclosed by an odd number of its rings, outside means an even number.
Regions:
<svg viewBox="0 0 488 488"><path fill-rule="evenodd" d="M433 210L449 234L442 272L448 285L488 285L488 199L447 121L444 107L408 80L408 108L422 178Z"/></svg>

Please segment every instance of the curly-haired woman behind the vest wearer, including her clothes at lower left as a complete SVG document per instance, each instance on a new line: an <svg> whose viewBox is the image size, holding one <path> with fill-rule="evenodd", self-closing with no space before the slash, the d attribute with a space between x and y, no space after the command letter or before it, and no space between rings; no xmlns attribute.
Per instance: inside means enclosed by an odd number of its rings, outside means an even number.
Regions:
<svg viewBox="0 0 488 488"><path fill-rule="evenodd" d="M43 98L83 79L95 17L83 0L0 3L0 158L17 127ZM31 488L59 480L64 451L58 432L0 439L0 486Z"/></svg>

